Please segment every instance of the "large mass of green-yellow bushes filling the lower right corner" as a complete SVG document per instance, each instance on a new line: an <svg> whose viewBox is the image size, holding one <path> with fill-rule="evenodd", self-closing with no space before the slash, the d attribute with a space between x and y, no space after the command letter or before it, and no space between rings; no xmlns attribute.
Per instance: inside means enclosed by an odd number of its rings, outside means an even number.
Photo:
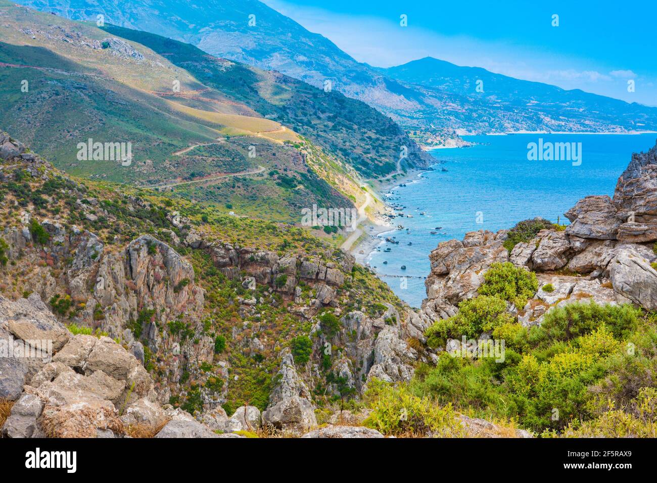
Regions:
<svg viewBox="0 0 657 483"><path fill-rule="evenodd" d="M430 342L440 336L434 331L436 324L427 331ZM657 314L630 305L554 308L540 327L515 321L497 325L493 340L505 342L502 362L442 353L436 367L417 369L411 392L453 402L476 417L511 418L536 432L603 436L625 431L614 425L626 417L610 411L633 407L643 388L657 385ZM650 430L643 422L627 421L634 425L628 434Z"/></svg>

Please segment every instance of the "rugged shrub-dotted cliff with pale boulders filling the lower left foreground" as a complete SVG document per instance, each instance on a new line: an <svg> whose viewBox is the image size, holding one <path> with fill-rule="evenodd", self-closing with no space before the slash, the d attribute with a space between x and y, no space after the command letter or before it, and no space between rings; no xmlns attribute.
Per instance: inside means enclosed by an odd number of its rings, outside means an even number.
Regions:
<svg viewBox="0 0 657 483"><path fill-rule="evenodd" d="M227 242L220 224L70 179L5 133L0 151L3 334L55 340L51 361L3 360L7 436L300 434L318 403L427 360L409 341L429 319L342 250L294 248L303 231L283 226L282 248Z"/></svg>

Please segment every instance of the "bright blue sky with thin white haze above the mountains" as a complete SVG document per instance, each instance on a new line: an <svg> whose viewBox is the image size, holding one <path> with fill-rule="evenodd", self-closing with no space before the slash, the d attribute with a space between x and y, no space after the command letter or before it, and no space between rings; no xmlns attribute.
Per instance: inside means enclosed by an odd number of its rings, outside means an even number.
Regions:
<svg viewBox="0 0 657 483"><path fill-rule="evenodd" d="M263 2L374 66L431 56L657 106L654 0ZM401 14L406 28L399 26ZM553 14L558 27L551 25Z"/></svg>

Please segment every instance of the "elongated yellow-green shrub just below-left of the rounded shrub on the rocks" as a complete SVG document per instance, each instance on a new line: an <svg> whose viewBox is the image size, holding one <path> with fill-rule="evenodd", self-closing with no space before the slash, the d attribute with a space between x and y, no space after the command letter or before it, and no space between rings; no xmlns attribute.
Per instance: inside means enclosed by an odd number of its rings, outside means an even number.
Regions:
<svg viewBox="0 0 657 483"><path fill-rule="evenodd" d="M457 315L440 319L426 329L427 344L432 348L442 347L448 338L476 338L483 332L512 323L514 317L506 310L507 303L495 296L480 295L464 300L459 304Z"/></svg>

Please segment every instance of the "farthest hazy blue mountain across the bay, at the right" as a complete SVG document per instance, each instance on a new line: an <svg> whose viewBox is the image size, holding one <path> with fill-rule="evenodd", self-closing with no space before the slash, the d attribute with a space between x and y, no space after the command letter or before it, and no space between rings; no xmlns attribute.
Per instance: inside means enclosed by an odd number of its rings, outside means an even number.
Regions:
<svg viewBox="0 0 657 483"><path fill-rule="evenodd" d="M406 85L427 89L429 96L458 96L461 107L477 110L484 119L473 120L476 132L514 131L518 119L522 130L602 131L652 130L657 126L657 108L586 93L555 85L519 80L479 67L463 67L425 57L401 66L377 69ZM477 82L480 90L477 91ZM501 116L487 120L486 115ZM456 112L455 120L459 119ZM463 120L463 124L466 124Z"/></svg>

